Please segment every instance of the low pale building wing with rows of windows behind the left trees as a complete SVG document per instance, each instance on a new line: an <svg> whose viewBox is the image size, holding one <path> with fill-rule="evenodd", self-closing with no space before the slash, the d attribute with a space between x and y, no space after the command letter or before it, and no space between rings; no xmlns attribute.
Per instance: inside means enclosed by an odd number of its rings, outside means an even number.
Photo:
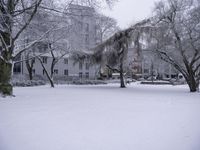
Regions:
<svg viewBox="0 0 200 150"><path fill-rule="evenodd" d="M40 55L40 53L35 53ZM60 57L62 53L54 52L55 57ZM40 55L45 68L50 72L52 56L50 53L44 53ZM24 74L28 74L27 67L23 65ZM34 59L33 75L35 77L46 78L45 71L41 66L38 59ZM62 57L54 67L54 79L71 80L71 79L94 79L96 76L95 66L90 66L87 61L78 62L74 64L74 61L66 54Z"/></svg>

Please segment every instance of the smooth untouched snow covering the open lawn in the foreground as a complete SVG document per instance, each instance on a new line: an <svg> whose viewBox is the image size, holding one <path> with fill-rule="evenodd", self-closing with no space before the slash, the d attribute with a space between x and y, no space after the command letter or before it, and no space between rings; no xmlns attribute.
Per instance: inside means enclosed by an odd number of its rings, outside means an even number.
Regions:
<svg viewBox="0 0 200 150"><path fill-rule="evenodd" d="M15 88L0 98L0 150L200 149L200 93L118 86Z"/></svg>

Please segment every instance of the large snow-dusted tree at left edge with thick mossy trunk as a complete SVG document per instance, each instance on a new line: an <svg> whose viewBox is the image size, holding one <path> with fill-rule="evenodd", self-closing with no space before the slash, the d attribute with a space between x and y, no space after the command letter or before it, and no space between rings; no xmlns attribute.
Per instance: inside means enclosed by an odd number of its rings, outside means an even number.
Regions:
<svg viewBox="0 0 200 150"><path fill-rule="evenodd" d="M89 0L89 2L97 1ZM106 1L111 2L110 0ZM71 2L71 0L67 2ZM0 0L0 41L2 45L0 50L0 93L3 95L12 95L13 93L10 84L13 60L37 42L31 42L26 48L20 48L20 46L16 48L18 39L30 25L41 3L42 0Z"/></svg>

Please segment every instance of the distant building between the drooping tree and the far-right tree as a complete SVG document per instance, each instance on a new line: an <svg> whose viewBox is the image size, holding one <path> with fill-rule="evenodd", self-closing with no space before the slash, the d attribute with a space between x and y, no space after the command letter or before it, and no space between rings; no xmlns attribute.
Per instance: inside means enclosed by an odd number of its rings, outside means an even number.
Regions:
<svg viewBox="0 0 200 150"><path fill-rule="evenodd" d="M138 52L135 48L129 48L128 62L130 64L130 72L134 78L175 78L178 71L167 62L161 60L156 53L150 50Z"/></svg>

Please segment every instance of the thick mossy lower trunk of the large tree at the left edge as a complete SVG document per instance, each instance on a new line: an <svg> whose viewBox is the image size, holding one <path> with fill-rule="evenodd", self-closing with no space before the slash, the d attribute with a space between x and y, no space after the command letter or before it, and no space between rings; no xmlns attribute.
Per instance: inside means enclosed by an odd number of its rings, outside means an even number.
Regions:
<svg viewBox="0 0 200 150"><path fill-rule="evenodd" d="M0 94L12 95L13 88L10 84L12 64L0 59Z"/></svg>

